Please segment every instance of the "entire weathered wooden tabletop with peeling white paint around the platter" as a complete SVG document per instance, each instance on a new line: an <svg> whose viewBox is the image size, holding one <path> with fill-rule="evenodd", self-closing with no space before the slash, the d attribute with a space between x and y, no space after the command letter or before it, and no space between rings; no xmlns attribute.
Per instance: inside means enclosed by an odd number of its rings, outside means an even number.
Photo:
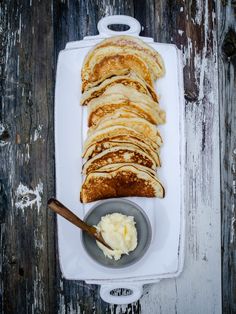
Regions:
<svg viewBox="0 0 236 314"><path fill-rule="evenodd" d="M0 311L220 313L221 165L223 309L235 313L235 1L3 0L0 5ZM102 302L96 286L61 277L55 218L46 207L55 190L58 52L67 41L96 34L97 21L111 14L134 16L144 26L142 35L177 44L184 56L186 100L184 271L176 280L146 287L139 302L123 307Z"/></svg>

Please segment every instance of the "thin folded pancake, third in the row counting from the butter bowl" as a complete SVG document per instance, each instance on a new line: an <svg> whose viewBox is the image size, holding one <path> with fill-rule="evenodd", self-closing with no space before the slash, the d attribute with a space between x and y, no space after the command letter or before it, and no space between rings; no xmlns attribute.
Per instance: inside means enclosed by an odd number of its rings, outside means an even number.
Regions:
<svg viewBox="0 0 236 314"><path fill-rule="evenodd" d="M131 142L132 141L132 142ZM117 139L109 140L109 141L101 141L97 143L91 144L86 150L83 152L83 157L87 159L91 159L92 157L100 154L104 150L110 149L112 147L120 147L125 146L127 149L136 149L141 150L146 153L148 156L155 161L156 167L160 167L160 158L158 151L153 150L149 145L144 142L141 142L135 138L129 137L117 137Z"/></svg>

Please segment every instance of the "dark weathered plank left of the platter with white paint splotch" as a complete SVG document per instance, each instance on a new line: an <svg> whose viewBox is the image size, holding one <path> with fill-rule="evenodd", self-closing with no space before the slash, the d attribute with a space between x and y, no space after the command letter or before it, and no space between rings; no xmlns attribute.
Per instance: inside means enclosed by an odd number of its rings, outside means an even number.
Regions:
<svg viewBox="0 0 236 314"><path fill-rule="evenodd" d="M53 28L47 1L1 2L3 313L55 312Z"/></svg>

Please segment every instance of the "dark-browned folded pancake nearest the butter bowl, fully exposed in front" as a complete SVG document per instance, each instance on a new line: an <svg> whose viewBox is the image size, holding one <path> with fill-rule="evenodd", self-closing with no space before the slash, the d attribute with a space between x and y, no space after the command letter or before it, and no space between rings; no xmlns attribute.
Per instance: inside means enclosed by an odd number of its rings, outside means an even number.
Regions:
<svg viewBox="0 0 236 314"><path fill-rule="evenodd" d="M82 203L111 197L160 197L164 187L150 168L137 164L113 164L90 172L82 185Z"/></svg>

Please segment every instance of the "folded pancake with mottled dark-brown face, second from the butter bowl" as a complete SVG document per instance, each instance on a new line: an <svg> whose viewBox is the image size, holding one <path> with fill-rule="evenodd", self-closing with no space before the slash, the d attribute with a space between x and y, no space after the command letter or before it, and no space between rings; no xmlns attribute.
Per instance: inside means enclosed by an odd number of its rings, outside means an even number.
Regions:
<svg viewBox="0 0 236 314"><path fill-rule="evenodd" d="M152 170L156 169L156 162L138 147L116 146L108 148L89 159L83 166L83 173L88 174L108 164L134 163Z"/></svg>

